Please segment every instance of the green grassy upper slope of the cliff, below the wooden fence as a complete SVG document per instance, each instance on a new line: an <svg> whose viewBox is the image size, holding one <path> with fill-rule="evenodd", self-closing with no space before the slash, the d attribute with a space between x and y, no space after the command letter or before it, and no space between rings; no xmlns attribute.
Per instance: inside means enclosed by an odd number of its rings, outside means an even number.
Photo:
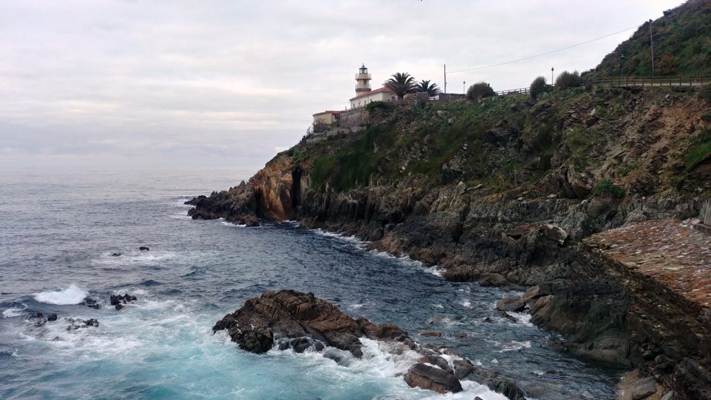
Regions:
<svg viewBox="0 0 711 400"><path fill-rule="evenodd" d="M648 106L638 103L664 107L667 95L686 102L687 106L675 109L682 114L672 114L663 124L646 121ZM685 178L671 171L670 165L683 163L688 173L707 164L711 155L709 130L699 127L680 134L669 126L698 118L698 108L705 102L697 97L668 88L638 95L620 89L573 88L546 93L537 102L525 95L508 95L482 102L384 107L363 134L299 145L289 154L303 160L311 172L311 186L319 190L400 181L413 186L464 181L501 193L533 188L546 174L569 167L596 183L612 179L632 192L636 181L653 179L661 191ZM599 120L587 126L593 110ZM517 131L505 145L488 139L500 127ZM638 137L654 139L639 146ZM629 143L622 145L625 141ZM669 155L653 150L655 143L662 142L668 142ZM626 154L624 159L611 162L620 151ZM456 174L447 172L448 163L454 164L451 169ZM648 190L639 192L649 194Z"/></svg>

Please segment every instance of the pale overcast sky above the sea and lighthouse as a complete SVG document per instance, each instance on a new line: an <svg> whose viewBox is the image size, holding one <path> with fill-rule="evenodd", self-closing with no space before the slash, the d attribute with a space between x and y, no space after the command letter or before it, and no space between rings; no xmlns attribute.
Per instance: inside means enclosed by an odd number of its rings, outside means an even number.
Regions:
<svg viewBox="0 0 711 400"><path fill-rule="evenodd" d="M0 0L0 168L258 169L322 110L407 72L535 56L656 19L680 0ZM633 30L448 74L528 86L587 70Z"/></svg>

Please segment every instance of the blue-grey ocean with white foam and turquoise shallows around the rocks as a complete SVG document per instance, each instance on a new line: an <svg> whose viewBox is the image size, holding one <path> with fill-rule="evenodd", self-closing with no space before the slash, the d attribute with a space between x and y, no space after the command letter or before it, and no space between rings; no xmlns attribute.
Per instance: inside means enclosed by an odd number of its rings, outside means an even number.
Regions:
<svg viewBox="0 0 711 400"><path fill-rule="evenodd" d="M472 382L460 394L411 389L398 374L416 357L378 342L336 364L314 352L250 354L212 334L247 298L281 288L395 323L522 384L614 399L612 372L550 349L554 335L525 313L499 317L499 289L449 283L435 268L295 222L245 228L186 216L183 201L249 175L0 172L0 399L504 399ZM117 311L116 293L138 300ZM102 307L79 305L87 296ZM35 312L58 320L36 327ZM68 330L68 318L100 325Z"/></svg>

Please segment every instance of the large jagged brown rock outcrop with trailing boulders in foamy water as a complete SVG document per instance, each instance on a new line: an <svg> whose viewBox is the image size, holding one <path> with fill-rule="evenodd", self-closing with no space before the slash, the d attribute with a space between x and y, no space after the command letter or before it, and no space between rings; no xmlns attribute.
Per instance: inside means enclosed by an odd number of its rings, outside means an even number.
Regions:
<svg viewBox="0 0 711 400"><path fill-rule="evenodd" d="M242 308L225 315L213 326L213 332L220 330L227 330L240 349L253 353L267 352L277 342L282 350L303 352L311 348L321 351L324 346L329 346L360 358L363 357L360 337L391 342L393 353L413 350L423 356L407 372L407 384L439 393L461 391L458 377L474 371L471 362L447 348L418 344L407 332L392 324L376 325L365 317L353 320L313 293L265 292L260 298L247 300ZM442 357L442 354L447 356Z"/></svg>

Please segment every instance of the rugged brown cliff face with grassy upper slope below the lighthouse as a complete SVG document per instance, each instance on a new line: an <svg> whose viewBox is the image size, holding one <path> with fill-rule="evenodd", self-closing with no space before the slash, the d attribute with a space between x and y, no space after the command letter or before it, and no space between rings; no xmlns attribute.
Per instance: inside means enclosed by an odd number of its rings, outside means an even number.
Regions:
<svg viewBox="0 0 711 400"><path fill-rule="evenodd" d="M641 317L654 315L649 299L679 289L645 286L584 244L619 226L698 214L711 164L689 154L709 140L707 108L696 93L579 89L538 102L375 110L365 132L302 142L249 182L193 199L190 213L247 225L298 219L439 265L449 280L538 286L533 321L564 335L562 350L641 367L681 399L708 399L708 357L683 332L664 336L650 323L662 317ZM690 320L707 307L670 304ZM676 355L660 369L651 349Z"/></svg>

